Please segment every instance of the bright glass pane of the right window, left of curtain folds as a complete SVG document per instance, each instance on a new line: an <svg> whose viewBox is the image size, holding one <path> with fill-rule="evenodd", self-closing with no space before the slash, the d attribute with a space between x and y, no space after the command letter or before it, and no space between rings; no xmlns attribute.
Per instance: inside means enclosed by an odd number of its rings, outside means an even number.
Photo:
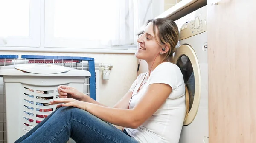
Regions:
<svg viewBox="0 0 256 143"><path fill-rule="evenodd" d="M114 39L118 1L56 0L55 37ZM105 14L102 12L105 12ZM104 31L104 32L103 32Z"/></svg>

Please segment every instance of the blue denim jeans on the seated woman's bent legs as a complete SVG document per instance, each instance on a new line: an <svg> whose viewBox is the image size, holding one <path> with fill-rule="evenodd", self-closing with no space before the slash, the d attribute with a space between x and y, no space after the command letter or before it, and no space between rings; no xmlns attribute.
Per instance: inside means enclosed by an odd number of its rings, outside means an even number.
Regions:
<svg viewBox="0 0 256 143"><path fill-rule="evenodd" d="M138 143L137 140L75 107L61 107L20 137L15 143Z"/></svg>

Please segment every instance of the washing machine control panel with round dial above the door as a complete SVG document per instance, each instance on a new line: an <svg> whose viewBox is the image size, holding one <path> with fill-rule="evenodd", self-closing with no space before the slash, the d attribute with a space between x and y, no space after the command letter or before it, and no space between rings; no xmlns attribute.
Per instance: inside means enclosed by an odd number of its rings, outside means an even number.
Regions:
<svg viewBox="0 0 256 143"><path fill-rule="evenodd" d="M206 6L192 12L191 15L193 15L191 20L188 20L180 28L179 40L207 31Z"/></svg>

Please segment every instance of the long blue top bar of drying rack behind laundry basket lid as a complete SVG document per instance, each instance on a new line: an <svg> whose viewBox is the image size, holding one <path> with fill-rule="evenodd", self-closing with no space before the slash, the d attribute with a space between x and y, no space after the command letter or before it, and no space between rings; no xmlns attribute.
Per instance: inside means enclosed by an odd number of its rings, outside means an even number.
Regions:
<svg viewBox="0 0 256 143"><path fill-rule="evenodd" d="M79 56L41 56L41 55L21 55L23 59L64 59L64 60L82 60L82 61L94 61L94 58L79 57Z"/></svg>

